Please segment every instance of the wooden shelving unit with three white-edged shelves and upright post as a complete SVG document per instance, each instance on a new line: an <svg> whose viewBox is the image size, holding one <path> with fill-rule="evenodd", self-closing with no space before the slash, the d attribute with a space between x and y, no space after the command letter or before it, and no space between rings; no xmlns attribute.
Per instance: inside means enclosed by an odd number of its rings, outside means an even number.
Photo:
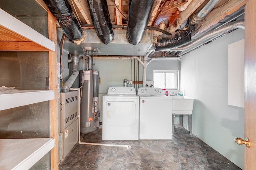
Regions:
<svg viewBox="0 0 256 170"><path fill-rule="evenodd" d="M28 25L17 20L4 10L0 9L0 51L49 51L49 59L51 61L56 49L56 42L44 37ZM49 15L49 13L48 13ZM51 17L51 16L50 16ZM52 21L56 24L56 21ZM51 29L56 29L56 25L48 25L49 32ZM56 37L54 37L56 39ZM52 65L49 62L50 69ZM57 65L57 63L56 63ZM57 70L57 67L54 68ZM50 81L52 74L50 71ZM56 107L56 92L55 84L50 85L52 90L0 90L0 111L11 109L14 107L25 106L38 102L50 101L50 117L52 113L55 115ZM54 102L52 102L54 101ZM58 115L58 114L57 114ZM49 122L51 130L51 138L30 138L30 139L0 139L0 169L29 169L44 155L51 151L51 169L58 169L58 160L56 150L58 149L58 135L55 133L58 124L58 117L51 118ZM57 149L56 149L57 148ZM57 150L58 151L58 150ZM57 163L56 163L57 162Z"/></svg>

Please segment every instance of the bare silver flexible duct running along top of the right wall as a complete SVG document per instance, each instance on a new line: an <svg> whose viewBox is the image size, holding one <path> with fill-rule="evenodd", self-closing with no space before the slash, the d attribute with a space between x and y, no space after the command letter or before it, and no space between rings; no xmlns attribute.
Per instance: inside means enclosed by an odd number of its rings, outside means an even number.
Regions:
<svg viewBox="0 0 256 170"><path fill-rule="evenodd" d="M208 41L218 35L222 35L224 33L227 33L228 31L232 31L232 30L238 29L238 28L244 29L244 20L234 21L233 23L228 23L218 29L209 31L208 33L204 34L203 36L199 37L198 39L194 40L191 43L188 43L179 48L171 49L170 51L185 51L185 50L196 48L199 45L201 45L202 43L205 43L206 41Z"/></svg>

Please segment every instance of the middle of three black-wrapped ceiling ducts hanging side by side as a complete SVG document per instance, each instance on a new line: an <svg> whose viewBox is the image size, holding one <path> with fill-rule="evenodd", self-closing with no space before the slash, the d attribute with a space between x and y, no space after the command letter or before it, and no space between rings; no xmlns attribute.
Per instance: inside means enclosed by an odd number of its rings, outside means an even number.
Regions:
<svg viewBox="0 0 256 170"><path fill-rule="evenodd" d="M93 25L99 39L104 44L110 43L114 39L112 23L108 12L106 0L87 0Z"/></svg>

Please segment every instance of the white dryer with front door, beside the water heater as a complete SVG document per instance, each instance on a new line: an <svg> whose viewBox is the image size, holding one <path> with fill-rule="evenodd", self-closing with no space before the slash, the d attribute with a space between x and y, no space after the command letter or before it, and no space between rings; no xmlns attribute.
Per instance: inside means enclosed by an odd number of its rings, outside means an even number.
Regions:
<svg viewBox="0 0 256 170"><path fill-rule="evenodd" d="M139 140L139 96L133 87L110 87L102 105L102 140Z"/></svg>

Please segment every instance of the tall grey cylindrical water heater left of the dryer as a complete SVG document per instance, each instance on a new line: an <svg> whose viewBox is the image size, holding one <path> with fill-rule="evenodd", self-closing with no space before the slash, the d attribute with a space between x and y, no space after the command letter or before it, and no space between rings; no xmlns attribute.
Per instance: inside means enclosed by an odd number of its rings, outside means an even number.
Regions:
<svg viewBox="0 0 256 170"><path fill-rule="evenodd" d="M95 70L80 70L80 85L82 97L80 104L81 133L95 131L99 127L98 95L99 72Z"/></svg>

